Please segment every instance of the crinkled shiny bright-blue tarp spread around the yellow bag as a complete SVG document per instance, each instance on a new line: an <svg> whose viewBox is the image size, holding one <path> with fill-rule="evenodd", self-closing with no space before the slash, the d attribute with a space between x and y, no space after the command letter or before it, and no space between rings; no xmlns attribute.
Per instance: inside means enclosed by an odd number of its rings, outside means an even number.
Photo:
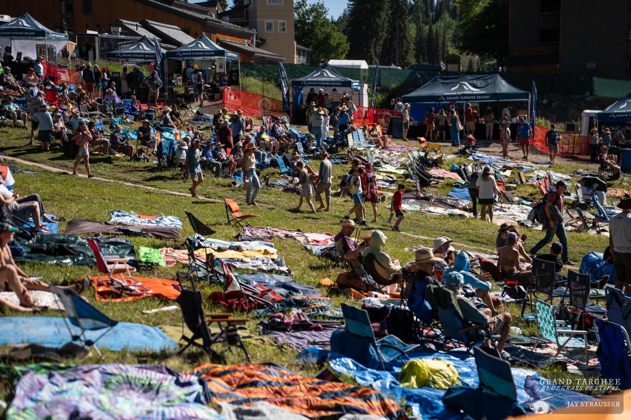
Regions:
<svg viewBox="0 0 631 420"><path fill-rule="evenodd" d="M451 353L408 353L410 358L434 359L440 358L449 361L458 371L462 385L478 387L478 373L475 365L475 358L467 356L463 352L452 351ZM300 353L304 361L329 361L331 368L339 373L352 376L357 383L391 397L392 399L405 400L405 405L410 405L414 416L432 419L462 419L463 416L449 409L445 409L442 404L444 390L434 388L403 388L399 386L396 379L407 360L396 361L391 364L389 371L379 371L365 368L353 359L346 358L337 353L332 353L318 347L309 347ZM550 391L546 389L548 381L535 371L521 368L512 368L513 380L517 388L518 402L529 399L529 395L524 391L526 376L533 376L534 381L539 385L541 399L552 397L548 400L551 407L567 407L568 402L595 401L594 397L569 390Z"/></svg>

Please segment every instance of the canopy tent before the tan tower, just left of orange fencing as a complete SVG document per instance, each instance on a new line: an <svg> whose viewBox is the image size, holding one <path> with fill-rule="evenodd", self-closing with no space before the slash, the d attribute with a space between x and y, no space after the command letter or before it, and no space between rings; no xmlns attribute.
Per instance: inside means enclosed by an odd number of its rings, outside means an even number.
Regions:
<svg viewBox="0 0 631 420"><path fill-rule="evenodd" d="M173 77L167 78L167 80L170 80L168 83L169 91L177 88L182 90L182 86L185 85L179 75L182 69L198 67L204 69L210 67L211 64L215 66L215 80L206 79L208 73L202 72L206 83L216 83L221 86L239 85L239 74L241 73L239 54L221 48L206 35L201 35L201 37L189 42L189 44L182 45L182 47L167 51L165 57L167 59L165 68L168 69L169 76L173 75ZM168 63L169 60L172 62ZM173 60L179 60L178 64L174 66ZM201 65L194 64L194 61L198 61ZM237 68L231 67L233 61L237 61ZM191 85L190 81L186 84Z"/></svg>

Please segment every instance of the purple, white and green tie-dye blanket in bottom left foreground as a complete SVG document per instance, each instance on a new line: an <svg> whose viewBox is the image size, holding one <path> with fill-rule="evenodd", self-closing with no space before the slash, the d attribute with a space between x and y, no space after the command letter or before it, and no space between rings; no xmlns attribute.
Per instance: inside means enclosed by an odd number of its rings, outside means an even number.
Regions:
<svg viewBox="0 0 631 420"><path fill-rule="evenodd" d="M38 366L6 412L20 419L221 419L203 382L160 365Z"/></svg>

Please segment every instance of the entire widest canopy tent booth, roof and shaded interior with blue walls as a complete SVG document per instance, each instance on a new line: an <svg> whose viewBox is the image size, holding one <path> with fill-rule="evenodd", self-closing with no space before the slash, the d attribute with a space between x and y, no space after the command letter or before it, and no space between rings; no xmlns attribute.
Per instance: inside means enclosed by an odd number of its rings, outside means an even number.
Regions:
<svg viewBox="0 0 631 420"><path fill-rule="evenodd" d="M449 105L455 105L461 122L464 125L464 108L466 103L477 111L476 114L476 139L485 139L486 131L483 116L490 107L495 122L502 119L502 109L507 105L513 105L510 114L512 117L510 131L513 135L517 131L517 116L528 115L530 109L530 93L517 89L502 79L498 74L467 74L464 76L436 76L417 90L404 95L403 102L410 103L411 122L408 137L416 137L425 134L423 117L428 108L433 107L438 114L440 108L445 107L448 112ZM507 102L500 104L500 102ZM522 102L519 108L516 102ZM526 118L528 121L528 118ZM438 129L438 125L436 125ZM449 136L449 130L447 130ZM499 124L493 128L493 139L499 138Z"/></svg>

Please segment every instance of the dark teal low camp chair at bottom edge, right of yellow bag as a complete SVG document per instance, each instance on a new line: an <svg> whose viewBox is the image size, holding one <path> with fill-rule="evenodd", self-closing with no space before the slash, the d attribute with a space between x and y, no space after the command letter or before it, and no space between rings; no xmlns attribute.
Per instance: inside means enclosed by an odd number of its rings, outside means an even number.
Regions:
<svg viewBox="0 0 631 420"><path fill-rule="evenodd" d="M473 356L480 381L478 388L449 388L442 398L445 407L456 412L463 411L473 419L500 420L528 414L517 403L510 363L478 348L473 349Z"/></svg>

